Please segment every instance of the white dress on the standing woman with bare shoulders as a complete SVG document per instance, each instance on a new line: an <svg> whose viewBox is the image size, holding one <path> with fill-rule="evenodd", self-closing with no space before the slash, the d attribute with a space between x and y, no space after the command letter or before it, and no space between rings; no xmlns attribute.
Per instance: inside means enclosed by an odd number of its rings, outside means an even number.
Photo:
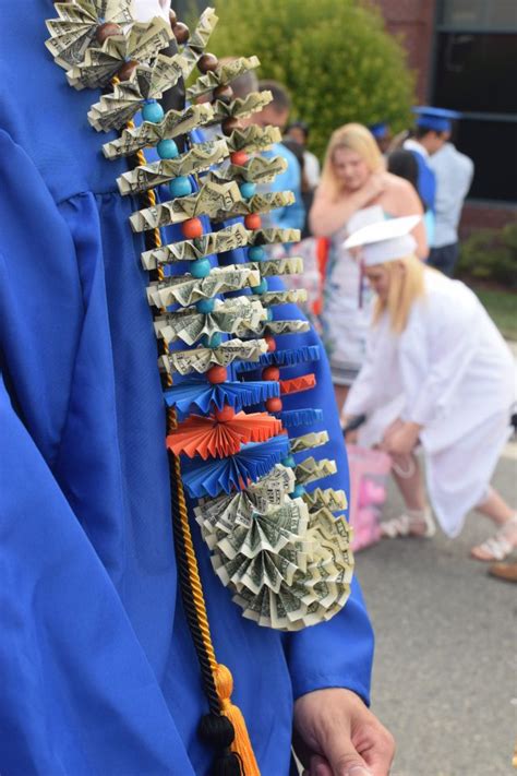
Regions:
<svg viewBox="0 0 517 776"><path fill-rule="evenodd" d="M330 238L323 290L322 337L336 385L351 385L364 361L372 300L359 262L342 243L352 231L384 217L378 205L364 207Z"/></svg>

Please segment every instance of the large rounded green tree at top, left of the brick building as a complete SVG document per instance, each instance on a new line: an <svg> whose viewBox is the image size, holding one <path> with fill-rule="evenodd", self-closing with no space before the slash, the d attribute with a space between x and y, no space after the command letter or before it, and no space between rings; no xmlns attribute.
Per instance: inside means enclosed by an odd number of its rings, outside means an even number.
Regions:
<svg viewBox="0 0 517 776"><path fill-rule="evenodd" d="M261 60L260 77L285 84L291 118L311 126L322 155L333 130L348 121L409 124L413 75L382 15L361 0L218 0L209 48Z"/></svg>

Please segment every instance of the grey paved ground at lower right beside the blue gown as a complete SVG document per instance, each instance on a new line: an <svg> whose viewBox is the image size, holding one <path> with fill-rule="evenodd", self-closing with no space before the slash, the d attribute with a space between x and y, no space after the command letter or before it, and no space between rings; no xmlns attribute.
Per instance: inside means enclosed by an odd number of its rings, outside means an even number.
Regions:
<svg viewBox="0 0 517 776"><path fill-rule="evenodd" d="M494 485L517 504L517 445ZM392 491L387 517L399 514ZM397 739L393 776L512 776L517 733L517 585L468 557L491 525L454 540L384 540L358 554L376 631L373 711Z"/></svg>

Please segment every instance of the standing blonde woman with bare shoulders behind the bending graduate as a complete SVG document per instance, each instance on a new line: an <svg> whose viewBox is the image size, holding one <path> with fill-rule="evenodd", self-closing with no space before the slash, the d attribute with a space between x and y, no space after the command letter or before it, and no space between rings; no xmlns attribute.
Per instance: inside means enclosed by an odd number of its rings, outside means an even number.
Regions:
<svg viewBox="0 0 517 776"><path fill-rule="evenodd" d="M330 241L322 324L339 410L364 359L370 322L368 285L342 242L353 230L380 218L421 213L413 187L386 172L377 144L365 127L350 123L333 133L309 222L315 237ZM420 223L414 237L417 254L424 259L428 244Z"/></svg>

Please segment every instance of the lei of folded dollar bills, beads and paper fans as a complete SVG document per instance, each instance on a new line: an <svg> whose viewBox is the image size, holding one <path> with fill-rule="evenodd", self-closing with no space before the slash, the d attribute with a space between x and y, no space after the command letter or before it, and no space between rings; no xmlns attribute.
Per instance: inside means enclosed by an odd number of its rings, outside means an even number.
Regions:
<svg viewBox="0 0 517 776"><path fill-rule="evenodd" d="M171 37L169 26L160 19L134 22L129 0L77 0L58 3L57 10L59 19L47 23L51 36L47 47L75 88L106 87L124 61L137 62L129 79L116 83L112 93L103 95L88 112L97 131L122 129L119 139L103 146L108 159L149 146L159 152L163 142L170 143L196 127L250 116L272 98L268 93L252 94L230 104L215 100L165 116L157 111L148 118L145 107L157 105L164 91L192 72L217 21L214 11L207 9L190 41L167 57L160 49ZM95 36L100 22L119 24L120 34L99 45ZM200 76L188 95L206 94L257 65L256 57L235 60ZM124 127L139 111L143 111L141 124ZM185 229L200 216L215 224L244 216L244 224L204 229L196 237L151 248L142 254L142 263L151 273L147 299L161 344L165 398L169 407L178 406L189 416L171 430L168 445L182 451L175 455L180 455L185 483L194 498L201 497L194 514L214 570L233 592L244 617L260 625L296 631L329 619L344 606L353 559L348 525L342 516L333 515L346 509L342 491L316 488L311 493L303 487L333 474L334 462L309 457L297 463L293 458L324 445L327 435L311 432L289 441L285 431L318 417L318 410L284 410L280 395L312 387L314 375L280 381L279 368L310 360L316 349L304 346L275 353L272 333L304 331L305 324L270 320L269 308L304 297L302 290L269 289L266 277L300 272L302 263L297 258L268 260L263 246L292 242L299 236L294 230L263 229L260 219L258 225L251 219L248 226L247 216L293 201L290 192L254 191L255 182L270 181L284 170L281 158L257 155L278 140L274 128L236 129L216 141L191 143L181 155L165 154L157 163L141 164L118 183L122 194L134 195L167 181L173 187L187 176L195 181L195 191L133 213L130 222L135 231L172 224ZM236 152L244 152L245 158L237 158ZM208 266L207 271L202 264L211 254L237 248L245 248L247 263ZM164 267L180 261L188 261L191 272L165 274ZM251 289L251 295L248 290L244 296L225 298L229 291L244 289ZM175 309L168 310L170 306ZM180 349L176 349L177 342ZM194 347L184 349L184 345ZM245 381L242 377L228 380L226 367L232 362L247 367L240 372ZM265 369L260 381L248 380L253 365ZM176 373L204 377L176 385ZM264 402L267 411L244 410ZM196 415L200 409L201 416Z"/></svg>

